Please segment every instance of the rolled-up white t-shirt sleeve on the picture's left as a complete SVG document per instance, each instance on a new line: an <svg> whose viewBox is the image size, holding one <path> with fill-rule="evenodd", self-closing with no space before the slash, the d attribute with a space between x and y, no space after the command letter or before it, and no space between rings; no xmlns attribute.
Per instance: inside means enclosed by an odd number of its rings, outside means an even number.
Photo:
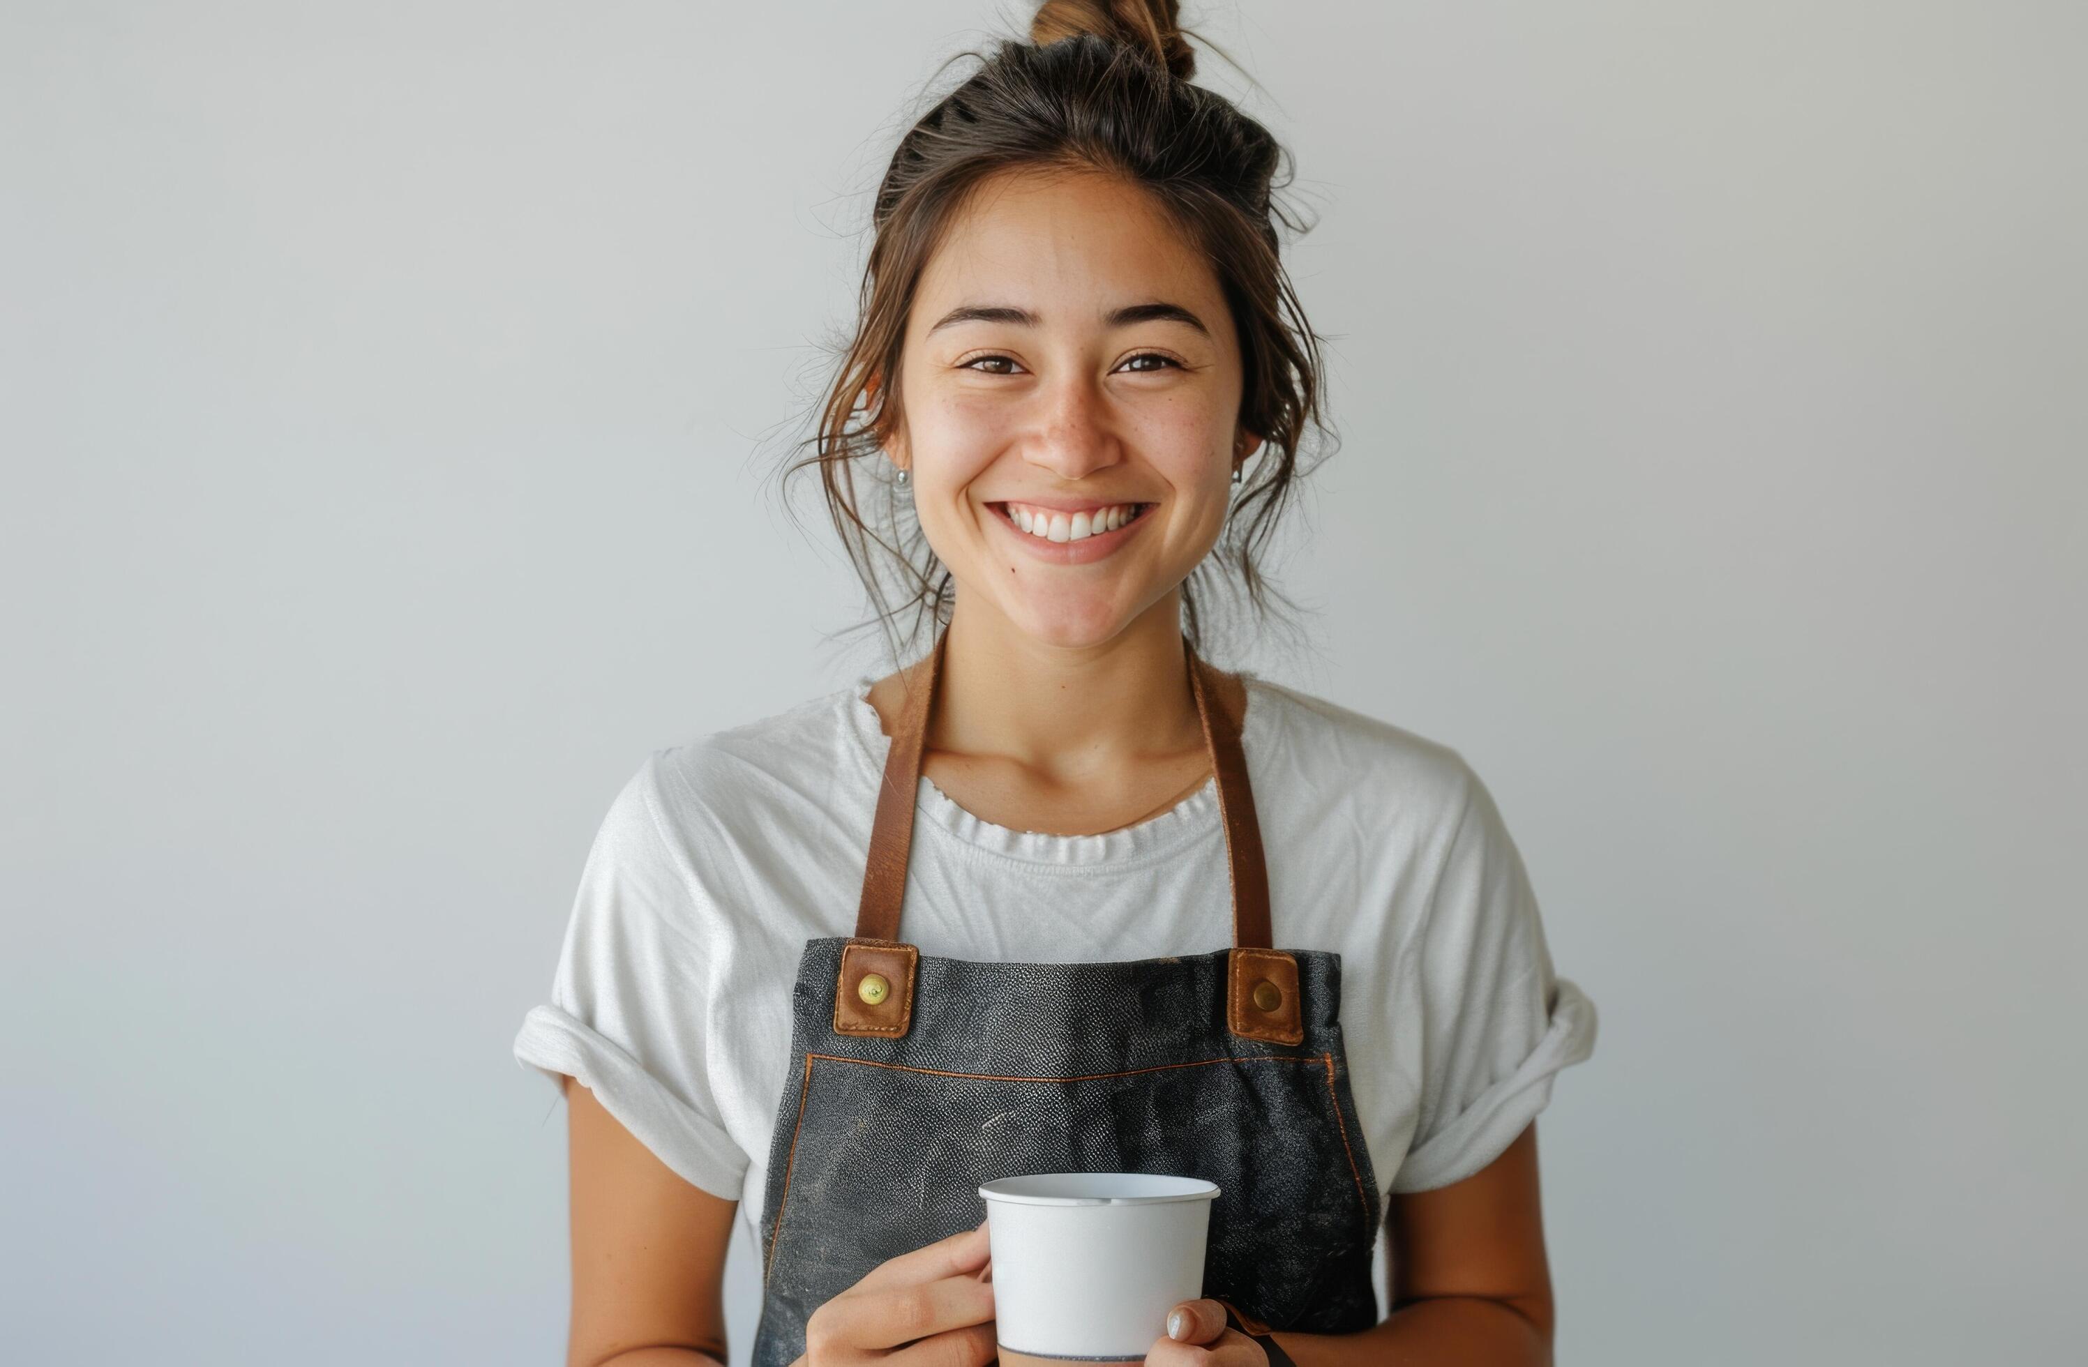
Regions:
<svg viewBox="0 0 2088 1367"><path fill-rule="evenodd" d="M514 1056L560 1089L576 1079L674 1173L739 1200L750 1160L708 1085L697 891L662 837L656 766L595 833L549 1002L522 1018Z"/></svg>

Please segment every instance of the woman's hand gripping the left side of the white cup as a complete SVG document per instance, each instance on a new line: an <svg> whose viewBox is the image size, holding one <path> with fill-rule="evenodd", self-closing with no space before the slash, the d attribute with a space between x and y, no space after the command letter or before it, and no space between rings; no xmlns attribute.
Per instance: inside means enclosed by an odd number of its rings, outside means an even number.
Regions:
<svg viewBox="0 0 2088 1367"><path fill-rule="evenodd" d="M873 1267L812 1311L791 1367L977 1367L998 1357L986 1221ZM894 1352L898 1348L898 1352Z"/></svg>

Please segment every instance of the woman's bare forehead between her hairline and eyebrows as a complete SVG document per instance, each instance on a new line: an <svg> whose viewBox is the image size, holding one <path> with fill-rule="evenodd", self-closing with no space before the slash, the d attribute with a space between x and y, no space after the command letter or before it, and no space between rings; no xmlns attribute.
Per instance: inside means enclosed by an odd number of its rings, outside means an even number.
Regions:
<svg viewBox="0 0 2088 1367"><path fill-rule="evenodd" d="M1144 298L1205 313L1221 305L1221 290L1203 253L1138 186L1098 171L1029 169L990 177L956 209L921 273L912 317L925 328L946 307L996 303L1059 328Z"/></svg>

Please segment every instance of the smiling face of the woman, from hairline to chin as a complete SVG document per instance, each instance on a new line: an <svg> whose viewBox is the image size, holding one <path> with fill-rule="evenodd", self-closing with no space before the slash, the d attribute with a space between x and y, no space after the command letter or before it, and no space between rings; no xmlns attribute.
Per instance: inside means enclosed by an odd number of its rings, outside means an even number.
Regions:
<svg viewBox="0 0 2088 1367"><path fill-rule="evenodd" d="M1094 645L1224 530L1232 467L1261 445L1240 386L1217 273L1142 190L1004 173L917 286L887 453L963 611Z"/></svg>

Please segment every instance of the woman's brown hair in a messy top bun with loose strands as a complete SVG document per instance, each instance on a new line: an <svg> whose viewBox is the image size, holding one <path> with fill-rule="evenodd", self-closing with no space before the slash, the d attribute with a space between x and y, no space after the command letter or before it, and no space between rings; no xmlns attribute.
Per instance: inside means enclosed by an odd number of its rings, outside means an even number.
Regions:
<svg viewBox="0 0 2088 1367"><path fill-rule="evenodd" d="M816 451L787 465L783 480L818 467L833 528L875 609L858 628L883 624L894 659L900 639L889 620L912 607L906 637L917 637L923 622L948 620L956 593L912 518L910 497L896 493L881 459L898 426L906 315L954 211L986 177L1013 167L1119 175L1144 188L1211 261L1240 344L1238 424L1263 447L1236 488L1217 547L1182 584L1184 632L1203 653L1196 582L1211 578L1232 589L1224 566L1238 568L1238 586L1263 618L1267 599L1284 597L1257 553L1295 480L1309 470L1299 465L1307 424L1326 434L1318 338L1278 259L1276 223L1295 234L1305 225L1272 198L1272 190L1288 186L1288 175L1276 179L1286 161L1276 138L1224 96L1190 83L1196 56L1176 15L1176 0L1046 0L1027 42L960 52L979 67L935 100L892 152L871 215L875 240L854 338L818 405L816 434L800 442ZM858 457L873 457L875 524L856 503ZM892 597L887 572L898 574Z"/></svg>

